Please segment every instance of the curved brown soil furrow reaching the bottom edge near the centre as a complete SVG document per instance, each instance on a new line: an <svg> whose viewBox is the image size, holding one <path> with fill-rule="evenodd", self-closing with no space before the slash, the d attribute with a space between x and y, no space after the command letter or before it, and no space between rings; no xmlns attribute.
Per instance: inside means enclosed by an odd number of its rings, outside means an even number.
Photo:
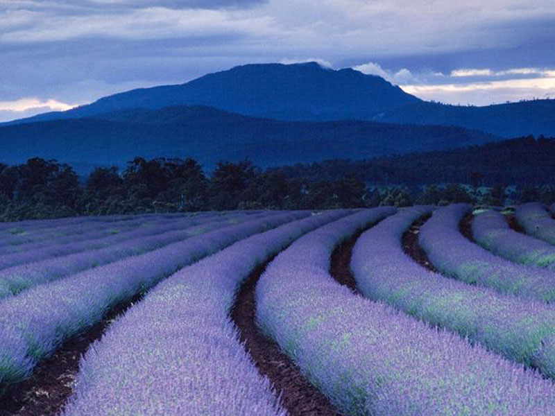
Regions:
<svg viewBox="0 0 555 416"><path fill-rule="evenodd" d="M311 385L280 347L264 336L255 322L255 287L266 265L250 273L237 295L231 318L260 374L270 379L291 416L341 416L330 401Z"/></svg>

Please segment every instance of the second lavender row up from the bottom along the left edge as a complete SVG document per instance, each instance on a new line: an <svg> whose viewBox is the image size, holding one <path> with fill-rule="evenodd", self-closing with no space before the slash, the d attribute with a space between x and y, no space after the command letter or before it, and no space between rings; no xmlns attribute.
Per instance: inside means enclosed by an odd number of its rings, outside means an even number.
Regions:
<svg viewBox="0 0 555 416"><path fill-rule="evenodd" d="M175 229L174 231L166 231L151 236L138 236L105 248L76 252L5 268L0 270L0 302L4 297L17 295L38 284L63 279L83 270L113 263L126 257L144 254L164 247L164 245L252 218L252 216L232 216L217 220L209 219L197 225L189 224L189 227L183 229Z"/></svg>

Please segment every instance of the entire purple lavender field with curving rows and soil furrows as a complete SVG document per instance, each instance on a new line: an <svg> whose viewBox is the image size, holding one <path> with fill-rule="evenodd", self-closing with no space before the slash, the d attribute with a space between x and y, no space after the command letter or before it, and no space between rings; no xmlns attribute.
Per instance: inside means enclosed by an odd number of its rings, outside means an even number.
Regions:
<svg viewBox="0 0 555 416"><path fill-rule="evenodd" d="M555 415L555 205L0 223L0 416Z"/></svg>

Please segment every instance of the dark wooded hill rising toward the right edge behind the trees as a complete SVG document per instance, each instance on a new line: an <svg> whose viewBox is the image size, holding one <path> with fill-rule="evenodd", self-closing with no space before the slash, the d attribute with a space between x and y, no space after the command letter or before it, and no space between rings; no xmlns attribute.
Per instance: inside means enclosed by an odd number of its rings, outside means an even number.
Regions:
<svg viewBox="0 0 555 416"><path fill-rule="evenodd" d="M366 160L331 159L272 168L288 177L340 180L355 175L366 184L479 182L541 185L555 183L555 138L520 137L482 146L408 153Z"/></svg>

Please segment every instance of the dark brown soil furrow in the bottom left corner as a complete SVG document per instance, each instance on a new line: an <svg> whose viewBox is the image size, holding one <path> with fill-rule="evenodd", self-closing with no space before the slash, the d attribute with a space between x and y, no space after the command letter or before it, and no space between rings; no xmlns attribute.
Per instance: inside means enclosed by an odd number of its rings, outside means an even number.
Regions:
<svg viewBox="0 0 555 416"><path fill-rule="evenodd" d="M129 302L115 306L106 317L74 338L71 338L35 368L33 375L6 388L0 397L0 416L50 416L62 410L73 391L79 370L79 361L89 345L101 338L105 329L140 300L137 295ZM1 386L0 386L1 387Z"/></svg>

